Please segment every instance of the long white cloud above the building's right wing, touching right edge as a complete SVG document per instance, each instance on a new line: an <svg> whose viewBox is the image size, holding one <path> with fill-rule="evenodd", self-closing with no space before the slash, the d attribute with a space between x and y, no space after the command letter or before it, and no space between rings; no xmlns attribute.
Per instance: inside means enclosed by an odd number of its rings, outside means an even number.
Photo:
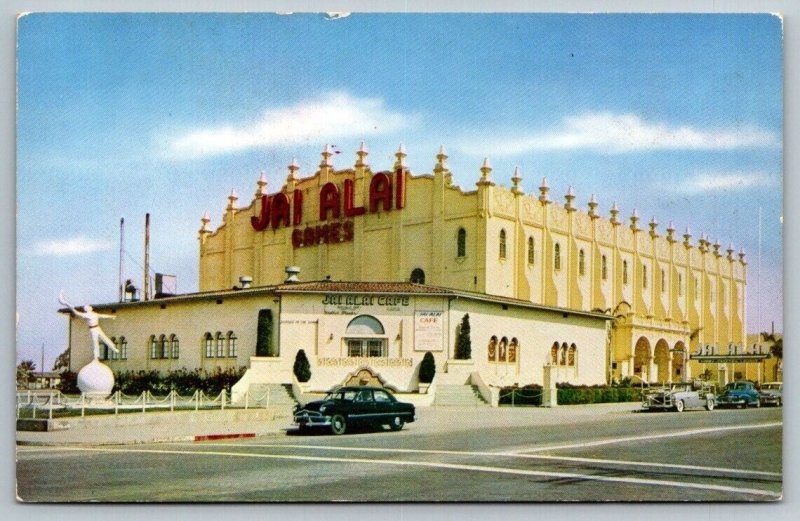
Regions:
<svg viewBox="0 0 800 521"><path fill-rule="evenodd" d="M479 138L469 140L460 148L504 156L537 150L583 149L621 154L650 150L732 150L779 144L775 133L754 126L701 129L645 121L636 114L590 112L565 118L561 126L552 131L515 134L507 139L489 141Z"/></svg>

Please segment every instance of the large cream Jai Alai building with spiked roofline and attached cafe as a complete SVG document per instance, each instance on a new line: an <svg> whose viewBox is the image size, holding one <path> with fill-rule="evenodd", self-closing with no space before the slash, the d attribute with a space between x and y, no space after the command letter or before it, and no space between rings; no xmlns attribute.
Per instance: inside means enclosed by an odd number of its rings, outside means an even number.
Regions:
<svg viewBox="0 0 800 521"><path fill-rule="evenodd" d="M584 210L571 187L556 197L545 180L525 194L519 171L498 186L488 161L464 191L443 149L419 176L402 147L388 171L370 168L363 145L352 168L332 156L326 147L305 178L293 161L273 193L262 175L246 205L232 192L216 229L203 217L198 293L97 306L117 314L108 334L125 337L112 368L247 366L248 381L286 383L304 349L316 388L366 370L414 390L426 351L441 382L489 387L542 383L545 365L572 383L727 381L723 358L694 355L752 353L746 262L732 245L616 204L603 216L594 195ZM284 283L287 266L308 282ZM467 313L472 359L455 360ZM85 342L79 329L71 345Z"/></svg>

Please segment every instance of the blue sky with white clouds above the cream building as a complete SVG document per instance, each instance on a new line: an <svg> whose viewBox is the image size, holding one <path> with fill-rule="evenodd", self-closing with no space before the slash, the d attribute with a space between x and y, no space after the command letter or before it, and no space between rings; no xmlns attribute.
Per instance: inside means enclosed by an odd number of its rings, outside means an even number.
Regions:
<svg viewBox="0 0 800 521"><path fill-rule="evenodd" d="M32 14L18 22L17 360L49 370L57 313L141 286L197 290L200 218L361 141L414 174L492 177L744 248L747 331L782 331L783 54L767 15ZM760 220L759 220L760 216ZM760 221L760 226L759 226ZM760 260L758 252L761 252Z"/></svg>

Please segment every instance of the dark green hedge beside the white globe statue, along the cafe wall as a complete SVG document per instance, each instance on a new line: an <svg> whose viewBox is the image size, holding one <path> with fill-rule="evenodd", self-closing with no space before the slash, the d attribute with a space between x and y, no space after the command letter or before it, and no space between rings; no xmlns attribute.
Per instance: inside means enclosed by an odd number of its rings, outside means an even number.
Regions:
<svg viewBox="0 0 800 521"><path fill-rule="evenodd" d="M150 391L156 395L166 395L174 390L181 396L190 396L200 390L208 395L217 395L223 389L230 391L246 370L246 367L225 370L217 367L213 372L178 369L163 375L155 370L121 371L114 374L114 392L139 395L144 391ZM59 389L65 394L79 393L77 375L69 371L61 373Z"/></svg>

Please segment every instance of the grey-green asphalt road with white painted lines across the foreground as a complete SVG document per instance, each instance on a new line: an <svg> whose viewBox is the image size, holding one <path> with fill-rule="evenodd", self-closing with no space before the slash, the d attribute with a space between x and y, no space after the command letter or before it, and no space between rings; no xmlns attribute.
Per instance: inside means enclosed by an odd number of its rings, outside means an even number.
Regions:
<svg viewBox="0 0 800 521"><path fill-rule="evenodd" d="M421 409L420 421L403 431L343 436L289 430L205 443L21 446L17 492L24 501L41 502L725 502L781 496L780 408L581 409L558 417L540 411ZM542 421L526 422L530 415ZM448 422L458 428L443 427Z"/></svg>

